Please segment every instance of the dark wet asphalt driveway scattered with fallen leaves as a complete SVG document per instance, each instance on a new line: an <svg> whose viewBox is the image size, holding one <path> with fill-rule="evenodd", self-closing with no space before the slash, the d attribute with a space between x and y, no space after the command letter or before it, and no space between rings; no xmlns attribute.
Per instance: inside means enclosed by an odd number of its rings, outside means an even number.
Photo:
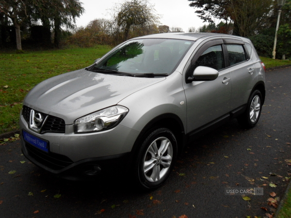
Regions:
<svg viewBox="0 0 291 218"><path fill-rule="evenodd" d="M291 68L267 72L259 124L245 130L233 120L189 144L166 184L151 192L131 188L127 176L94 183L61 180L22 156L19 140L0 145L0 217L245 218L272 214L291 177L290 82ZM262 187L263 195L248 195L250 200L245 201L241 195L226 195L227 187ZM270 198L275 202L270 203Z"/></svg>

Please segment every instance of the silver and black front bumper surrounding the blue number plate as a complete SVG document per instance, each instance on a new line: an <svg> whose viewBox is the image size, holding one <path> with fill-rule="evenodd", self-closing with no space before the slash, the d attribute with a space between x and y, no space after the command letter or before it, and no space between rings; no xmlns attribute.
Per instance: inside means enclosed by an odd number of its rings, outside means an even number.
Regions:
<svg viewBox="0 0 291 218"><path fill-rule="evenodd" d="M21 149L33 164L59 177L70 180L90 180L102 174L127 171L132 146L138 132L125 126L87 134L74 134L73 125L67 125L65 134L38 134L28 128L20 116ZM48 141L48 152L24 140L23 131Z"/></svg>

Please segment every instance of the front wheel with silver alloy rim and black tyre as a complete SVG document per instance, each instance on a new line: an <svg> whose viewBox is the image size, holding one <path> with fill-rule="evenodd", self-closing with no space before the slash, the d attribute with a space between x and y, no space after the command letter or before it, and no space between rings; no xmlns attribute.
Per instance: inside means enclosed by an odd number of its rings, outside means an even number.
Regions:
<svg viewBox="0 0 291 218"><path fill-rule="evenodd" d="M151 130L136 156L135 177L144 189L161 186L171 174L177 157L177 141L167 128Z"/></svg>

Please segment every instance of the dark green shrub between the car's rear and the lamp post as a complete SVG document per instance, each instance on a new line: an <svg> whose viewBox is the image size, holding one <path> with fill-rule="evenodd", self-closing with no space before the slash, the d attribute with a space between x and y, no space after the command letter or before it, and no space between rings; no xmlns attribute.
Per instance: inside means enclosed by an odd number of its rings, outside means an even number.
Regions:
<svg viewBox="0 0 291 218"><path fill-rule="evenodd" d="M249 37L249 39L254 44L259 56L272 58L272 51L274 46L274 37L268 35L255 35Z"/></svg>

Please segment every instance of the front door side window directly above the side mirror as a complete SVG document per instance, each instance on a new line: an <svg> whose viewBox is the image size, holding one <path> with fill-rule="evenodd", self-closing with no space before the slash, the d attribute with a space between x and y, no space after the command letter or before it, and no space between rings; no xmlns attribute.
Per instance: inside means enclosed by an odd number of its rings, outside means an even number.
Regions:
<svg viewBox="0 0 291 218"><path fill-rule="evenodd" d="M215 70L223 69L224 57L221 45L207 48L195 62L194 69L197 66L207 66Z"/></svg>

